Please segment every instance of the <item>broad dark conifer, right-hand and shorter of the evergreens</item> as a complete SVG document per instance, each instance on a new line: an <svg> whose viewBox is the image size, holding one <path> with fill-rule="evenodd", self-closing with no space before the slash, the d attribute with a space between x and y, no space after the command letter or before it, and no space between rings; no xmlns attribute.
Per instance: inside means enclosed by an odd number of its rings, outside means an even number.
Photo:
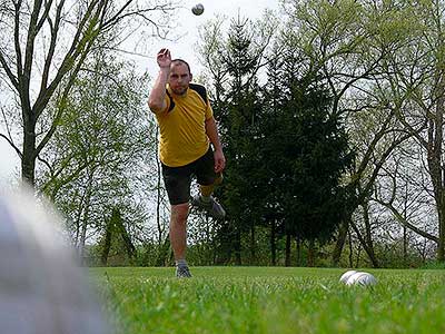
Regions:
<svg viewBox="0 0 445 334"><path fill-rule="evenodd" d="M295 73L294 73L295 76ZM266 120L275 129L263 140L263 161L284 219L284 232L303 239L328 239L344 217L339 184L353 155L332 99L316 78L288 79L280 108ZM270 204L269 204L270 205Z"/></svg>

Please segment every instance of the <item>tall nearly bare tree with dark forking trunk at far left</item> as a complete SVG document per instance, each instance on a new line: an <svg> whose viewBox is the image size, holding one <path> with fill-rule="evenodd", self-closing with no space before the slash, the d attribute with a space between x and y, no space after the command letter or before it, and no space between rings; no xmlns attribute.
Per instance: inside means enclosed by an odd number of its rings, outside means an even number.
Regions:
<svg viewBox="0 0 445 334"><path fill-rule="evenodd" d="M34 185L36 159L53 136L73 82L96 48L113 49L136 28L162 35L175 2L139 0L3 1L0 7L0 78L18 101L22 179ZM168 20L167 20L168 22ZM167 27L168 28L168 27ZM48 118L49 102L59 105Z"/></svg>

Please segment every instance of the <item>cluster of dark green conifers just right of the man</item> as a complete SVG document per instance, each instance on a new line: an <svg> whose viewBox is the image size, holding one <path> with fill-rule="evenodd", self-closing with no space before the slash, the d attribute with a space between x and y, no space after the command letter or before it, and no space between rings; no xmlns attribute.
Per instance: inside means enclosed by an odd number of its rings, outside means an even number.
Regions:
<svg viewBox="0 0 445 334"><path fill-rule="evenodd" d="M225 255L214 256L221 263L255 262L255 232L263 226L277 225L278 236L328 239L347 198L339 179L352 155L327 89L317 73L304 72L291 48L276 42L269 52L270 36L258 42L256 27L231 20L226 47L219 40L215 55L227 73L221 80L212 71L216 84L226 84L216 87L214 104L228 161L218 193L229 220L217 232ZM217 47L214 40L206 46ZM269 81L261 86L264 59Z"/></svg>

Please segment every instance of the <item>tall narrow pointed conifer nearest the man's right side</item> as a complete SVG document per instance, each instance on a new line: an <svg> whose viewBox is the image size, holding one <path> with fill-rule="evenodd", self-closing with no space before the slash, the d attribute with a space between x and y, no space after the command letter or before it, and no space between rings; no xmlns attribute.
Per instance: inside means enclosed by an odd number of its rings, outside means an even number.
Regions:
<svg viewBox="0 0 445 334"><path fill-rule="evenodd" d="M263 39L257 40L256 36L263 36ZM256 199L264 195L256 194L254 197L251 189L258 184L257 138L261 135L258 127L261 98L257 71L265 45L264 31L259 32L251 21L238 17L231 21L225 45L220 43L218 50L221 63L217 68L224 68L226 85L217 86L218 99L214 111L229 161L225 170L225 186L218 193L229 220L218 230L217 237L222 254L226 254L218 256L222 263L230 262L233 256L239 263L241 234L255 228L260 219Z"/></svg>

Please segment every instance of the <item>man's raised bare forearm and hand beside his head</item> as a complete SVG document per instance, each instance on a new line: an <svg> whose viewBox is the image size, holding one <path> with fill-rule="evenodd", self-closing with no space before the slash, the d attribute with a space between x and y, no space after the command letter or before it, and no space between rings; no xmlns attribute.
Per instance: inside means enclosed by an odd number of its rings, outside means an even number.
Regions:
<svg viewBox="0 0 445 334"><path fill-rule="evenodd" d="M161 49L156 60L159 66L159 73L148 98L148 107L154 112L161 112L167 108L166 85L170 75L171 56L168 49Z"/></svg>

